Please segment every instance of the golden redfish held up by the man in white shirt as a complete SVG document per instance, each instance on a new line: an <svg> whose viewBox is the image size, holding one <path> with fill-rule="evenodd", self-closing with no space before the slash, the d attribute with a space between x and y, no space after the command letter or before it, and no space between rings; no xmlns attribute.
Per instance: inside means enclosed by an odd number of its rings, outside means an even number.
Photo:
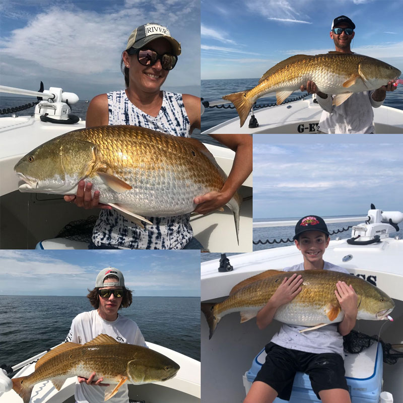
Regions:
<svg viewBox="0 0 403 403"><path fill-rule="evenodd" d="M400 74L390 64L362 54L335 51L315 56L297 54L267 70L256 87L225 95L223 99L234 104L242 127L256 99L266 94L275 92L280 105L310 80L318 91L336 95L333 105L339 106L353 93L376 90Z"/></svg>

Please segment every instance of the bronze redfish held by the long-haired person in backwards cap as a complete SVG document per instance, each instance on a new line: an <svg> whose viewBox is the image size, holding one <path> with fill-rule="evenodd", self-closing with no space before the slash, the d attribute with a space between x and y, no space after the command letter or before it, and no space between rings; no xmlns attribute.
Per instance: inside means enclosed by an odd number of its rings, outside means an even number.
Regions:
<svg viewBox="0 0 403 403"><path fill-rule="evenodd" d="M98 378L110 385L105 389L105 401L124 382L142 384L173 378L179 365L164 355L142 346L118 343L100 334L84 345L64 343L45 354L35 365L35 372L13 378L13 389L29 403L34 385L50 380L57 390L72 376L89 378L95 371Z"/></svg>

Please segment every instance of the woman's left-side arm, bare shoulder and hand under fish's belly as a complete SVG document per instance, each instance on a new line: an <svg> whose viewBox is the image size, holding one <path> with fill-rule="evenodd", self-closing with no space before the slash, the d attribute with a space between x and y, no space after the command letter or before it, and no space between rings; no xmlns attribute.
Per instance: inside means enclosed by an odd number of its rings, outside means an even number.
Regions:
<svg viewBox="0 0 403 403"><path fill-rule="evenodd" d="M102 126L109 123L108 98L106 94L100 94L94 97L88 105L86 127ZM74 203L78 207L85 209L107 209L112 208L108 205L99 203L99 191L94 192L92 196L92 183L81 180L78 184L77 194L68 194L64 200Z"/></svg>

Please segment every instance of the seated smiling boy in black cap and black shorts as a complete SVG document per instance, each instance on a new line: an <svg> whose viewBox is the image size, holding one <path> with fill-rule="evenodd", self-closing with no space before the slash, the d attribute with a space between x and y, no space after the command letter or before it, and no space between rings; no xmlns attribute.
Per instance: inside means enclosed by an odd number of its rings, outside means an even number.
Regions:
<svg viewBox="0 0 403 403"><path fill-rule="evenodd" d="M322 218L306 216L295 227L295 245L304 261L285 272L301 270L348 271L323 260L329 244L329 232ZM285 278L266 305L256 316L259 329L270 324L277 309L292 301L300 292L302 277L293 274ZM351 403L343 361L343 335L348 334L357 318L358 297L352 286L335 284L334 291L341 309L342 322L313 330L305 326L283 324L280 331L266 345L266 361L250 388L244 403L271 403L277 396L289 400L296 371L309 374L312 389L324 403Z"/></svg>

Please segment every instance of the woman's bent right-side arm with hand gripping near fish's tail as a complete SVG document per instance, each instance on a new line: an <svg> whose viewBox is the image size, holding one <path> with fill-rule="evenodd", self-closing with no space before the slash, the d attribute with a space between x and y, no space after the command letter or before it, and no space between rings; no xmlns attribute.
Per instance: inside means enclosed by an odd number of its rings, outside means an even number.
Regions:
<svg viewBox="0 0 403 403"><path fill-rule="evenodd" d="M207 214L225 206L252 172L252 137L250 135L210 135L235 151L231 172L220 191L194 198L196 213Z"/></svg>

